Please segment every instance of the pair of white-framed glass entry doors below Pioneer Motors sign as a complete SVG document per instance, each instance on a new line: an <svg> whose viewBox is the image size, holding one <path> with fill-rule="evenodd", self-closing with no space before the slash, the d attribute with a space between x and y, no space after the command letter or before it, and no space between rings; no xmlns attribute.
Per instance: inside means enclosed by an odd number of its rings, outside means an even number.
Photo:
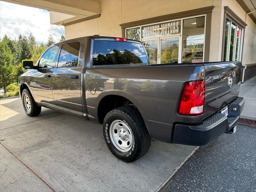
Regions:
<svg viewBox="0 0 256 192"><path fill-rule="evenodd" d="M150 64L181 63L180 36L142 40Z"/></svg>

